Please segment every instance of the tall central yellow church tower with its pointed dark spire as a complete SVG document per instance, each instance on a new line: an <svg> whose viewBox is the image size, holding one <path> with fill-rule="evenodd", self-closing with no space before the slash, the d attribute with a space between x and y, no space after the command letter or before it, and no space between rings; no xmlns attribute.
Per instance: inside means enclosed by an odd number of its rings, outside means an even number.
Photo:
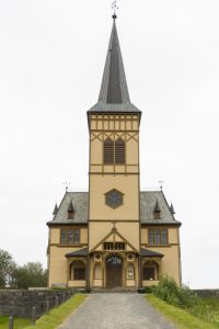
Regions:
<svg viewBox="0 0 219 329"><path fill-rule="evenodd" d="M136 252L140 252L141 112L131 104L129 99L116 16L113 18L99 101L88 111L89 252L103 251L102 271L108 272L104 269L104 263L111 271L111 274L104 277L107 286L111 286L114 277L118 275L119 269L114 266L114 262L124 265L127 263L127 257L134 259ZM94 264L91 262L92 265ZM138 272L137 263L134 262L134 266ZM92 281L92 277L90 280ZM120 275L118 280L122 285L126 285L125 276Z"/></svg>

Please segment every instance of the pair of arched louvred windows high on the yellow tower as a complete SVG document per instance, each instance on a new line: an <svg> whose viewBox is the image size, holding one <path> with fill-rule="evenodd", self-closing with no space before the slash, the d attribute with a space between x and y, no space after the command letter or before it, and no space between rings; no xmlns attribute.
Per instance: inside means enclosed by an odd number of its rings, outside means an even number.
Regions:
<svg viewBox="0 0 219 329"><path fill-rule="evenodd" d="M107 138L104 141L104 164L125 164L126 144L122 138L113 141Z"/></svg>

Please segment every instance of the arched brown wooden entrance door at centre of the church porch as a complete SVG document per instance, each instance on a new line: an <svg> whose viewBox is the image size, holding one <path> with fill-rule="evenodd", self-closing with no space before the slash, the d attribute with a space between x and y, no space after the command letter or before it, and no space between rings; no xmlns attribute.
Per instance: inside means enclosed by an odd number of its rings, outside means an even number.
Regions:
<svg viewBox="0 0 219 329"><path fill-rule="evenodd" d="M123 259L111 256L106 259L106 287L123 286Z"/></svg>

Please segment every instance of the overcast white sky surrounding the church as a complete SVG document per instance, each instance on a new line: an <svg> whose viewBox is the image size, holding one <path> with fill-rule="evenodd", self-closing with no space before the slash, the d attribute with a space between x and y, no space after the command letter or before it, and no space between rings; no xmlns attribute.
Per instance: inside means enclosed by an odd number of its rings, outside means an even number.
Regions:
<svg viewBox="0 0 219 329"><path fill-rule="evenodd" d="M0 249L46 265L65 192L88 190L87 110L111 34L108 0L0 0ZM219 1L120 0L117 29L142 112L141 189L173 202L183 282L219 287Z"/></svg>

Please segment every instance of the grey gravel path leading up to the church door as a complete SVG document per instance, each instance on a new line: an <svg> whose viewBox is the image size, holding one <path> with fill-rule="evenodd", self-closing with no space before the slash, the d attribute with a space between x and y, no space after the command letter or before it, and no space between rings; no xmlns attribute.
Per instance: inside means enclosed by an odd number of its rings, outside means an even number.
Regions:
<svg viewBox="0 0 219 329"><path fill-rule="evenodd" d="M92 294L58 329L174 329L142 295Z"/></svg>

